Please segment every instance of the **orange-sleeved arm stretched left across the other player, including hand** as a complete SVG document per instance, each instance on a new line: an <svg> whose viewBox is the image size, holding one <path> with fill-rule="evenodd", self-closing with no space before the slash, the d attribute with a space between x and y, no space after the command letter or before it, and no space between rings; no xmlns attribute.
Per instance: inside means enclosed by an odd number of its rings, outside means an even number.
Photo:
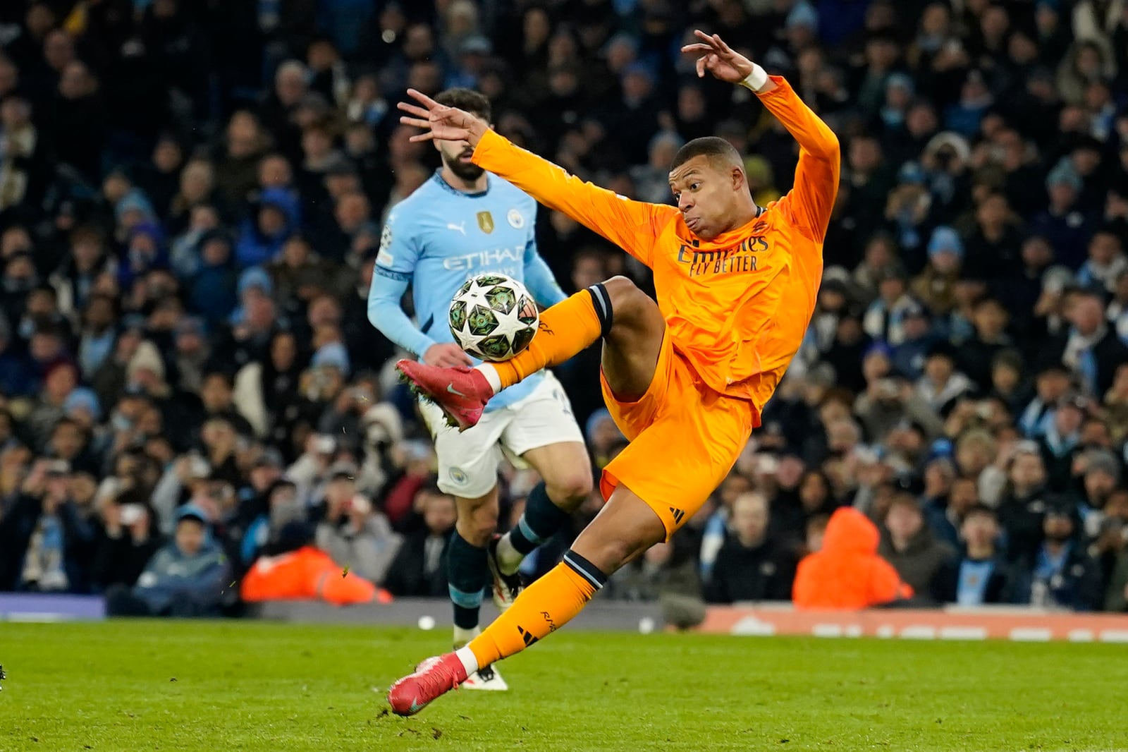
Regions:
<svg viewBox="0 0 1128 752"><path fill-rule="evenodd" d="M408 89L407 94L418 104L400 102L398 107L408 114L399 122L423 129L423 133L412 137L413 141L466 141L474 147L476 165L504 177L549 209L564 212L650 265L654 238L677 215L676 208L631 201L585 183L563 167L510 143L469 113L441 105L415 89Z"/></svg>

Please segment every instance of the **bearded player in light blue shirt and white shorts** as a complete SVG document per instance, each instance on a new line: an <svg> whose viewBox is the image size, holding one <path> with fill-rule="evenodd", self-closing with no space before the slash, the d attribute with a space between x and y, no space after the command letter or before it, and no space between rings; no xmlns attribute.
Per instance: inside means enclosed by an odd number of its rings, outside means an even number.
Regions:
<svg viewBox="0 0 1128 752"><path fill-rule="evenodd" d="M490 102L469 89L449 89L439 102L490 122ZM536 201L470 161L465 141L434 141L442 168L388 215L380 238L368 317L399 347L434 366L470 366L450 333L447 316L462 282L487 272L521 280L537 303L550 306L564 292L537 253ZM400 307L412 290L416 321ZM434 437L439 488L456 498L457 534L448 550L455 606L455 647L478 632L478 606L493 575L494 601L505 609L520 591L521 559L552 537L591 492L591 461L559 382L548 371L494 396L474 428L459 434L442 411L421 403ZM543 479L525 514L504 536L497 526L497 466L508 456ZM487 666L464 687L506 689Z"/></svg>

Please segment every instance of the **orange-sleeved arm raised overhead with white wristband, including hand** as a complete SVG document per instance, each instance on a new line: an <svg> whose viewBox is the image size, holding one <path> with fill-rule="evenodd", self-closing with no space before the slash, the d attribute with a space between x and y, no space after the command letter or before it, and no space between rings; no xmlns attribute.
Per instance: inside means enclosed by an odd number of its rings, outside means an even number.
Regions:
<svg viewBox="0 0 1128 752"><path fill-rule="evenodd" d="M733 51L716 34L695 32L698 42L681 51L697 54L697 76L708 71L729 84L751 89L764 106L779 119L801 147L795 186L787 201L799 228L821 243L838 193L841 152L838 137L816 115L786 80L768 76L763 68Z"/></svg>

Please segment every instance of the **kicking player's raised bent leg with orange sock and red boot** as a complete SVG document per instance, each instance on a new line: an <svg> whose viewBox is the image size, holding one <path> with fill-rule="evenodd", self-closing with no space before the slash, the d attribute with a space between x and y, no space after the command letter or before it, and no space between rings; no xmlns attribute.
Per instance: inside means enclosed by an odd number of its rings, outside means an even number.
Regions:
<svg viewBox="0 0 1128 752"><path fill-rule="evenodd" d="M616 343L614 362L609 364L616 371L611 382L616 394L622 387L624 399L642 395L658 364L664 331L658 305L629 279L614 277L540 314L537 335L528 349L510 360L475 368L437 368L400 360L396 367L459 430L465 430L477 423L494 394L543 368L564 362L601 335L606 343ZM629 347L622 347L624 342Z"/></svg>

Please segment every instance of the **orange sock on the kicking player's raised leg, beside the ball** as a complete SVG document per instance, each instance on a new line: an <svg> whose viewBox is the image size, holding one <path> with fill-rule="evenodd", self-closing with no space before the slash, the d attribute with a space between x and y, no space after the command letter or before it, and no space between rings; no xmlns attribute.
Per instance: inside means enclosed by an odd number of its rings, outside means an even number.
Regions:
<svg viewBox="0 0 1128 752"><path fill-rule="evenodd" d="M541 313L540 327L528 348L509 360L490 364L496 369L503 388L541 368L558 366L599 339L603 331L603 318L608 318L608 315L597 312L592 295L602 296L608 313L610 301L602 285L597 285L596 288L597 292L590 291L591 288L580 290ZM608 321L608 325L609 323Z"/></svg>

